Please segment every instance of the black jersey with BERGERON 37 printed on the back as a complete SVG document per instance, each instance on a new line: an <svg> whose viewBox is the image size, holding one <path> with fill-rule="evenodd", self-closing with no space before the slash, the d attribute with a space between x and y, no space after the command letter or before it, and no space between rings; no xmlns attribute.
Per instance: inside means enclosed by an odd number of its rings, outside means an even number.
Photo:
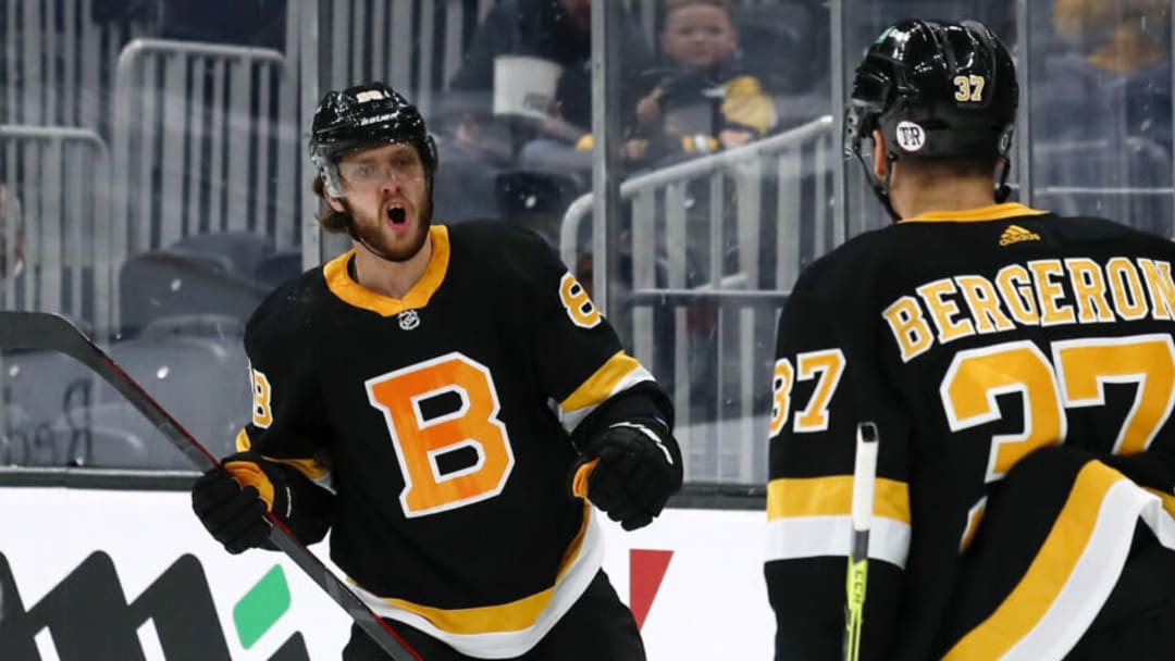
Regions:
<svg viewBox="0 0 1175 661"><path fill-rule="evenodd" d="M960 558L1020 459L1058 444L1175 451L1173 263L1159 237L1007 203L909 218L807 269L779 321L772 384L777 657L839 657L860 421L880 433L862 657L1053 659L1045 643L1076 640L1142 508L1162 511L1109 468L1059 475L1069 500L1040 521L1043 541L1008 549L1019 580L982 586L999 592L992 611L958 640L934 638L968 599L952 593ZM1092 567L1109 579L1096 589Z"/></svg>

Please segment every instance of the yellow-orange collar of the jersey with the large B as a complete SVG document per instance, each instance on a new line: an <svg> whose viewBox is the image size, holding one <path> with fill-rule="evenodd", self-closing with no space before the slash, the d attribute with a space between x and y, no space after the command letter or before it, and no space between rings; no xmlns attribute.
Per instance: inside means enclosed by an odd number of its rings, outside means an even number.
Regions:
<svg viewBox="0 0 1175 661"><path fill-rule="evenodd" d="M355 256L354 248L322 267L322 275L327 278L327 288L344 303L370 310L383 317L392 317L404 310L424 308L436 290L441 288L445 274L449 272L449 228L432 225L429 228L429 235L432 240L432 256L429 257L429 265L424 268L424 275L403 298L391 298L376 294L351 278L350 274L347 272L347 264Z"/></svg>

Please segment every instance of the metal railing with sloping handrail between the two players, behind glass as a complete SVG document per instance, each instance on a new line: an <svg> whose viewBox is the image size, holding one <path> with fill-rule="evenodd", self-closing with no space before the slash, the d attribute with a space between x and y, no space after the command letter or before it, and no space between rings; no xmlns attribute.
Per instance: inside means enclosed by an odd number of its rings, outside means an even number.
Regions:
<svg viewBox="0 0 1175 661"><path fill-rule="evenodd" d="M671 391L691 480L765 477L774 321L803 267L834 248L831 116L620 186L631 213L609 310ZM583 265L592 195L564 215L560 255ZM580 269L582 270L582 269Z"/></svg>

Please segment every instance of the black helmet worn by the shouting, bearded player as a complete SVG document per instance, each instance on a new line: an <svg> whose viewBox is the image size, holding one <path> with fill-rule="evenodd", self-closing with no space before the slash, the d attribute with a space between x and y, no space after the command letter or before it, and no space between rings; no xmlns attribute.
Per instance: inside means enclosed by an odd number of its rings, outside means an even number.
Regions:
<svg viewBox="0 0 1175 661"><path fill-rule="evenodd" d="M437 148L416 106L382 82L328 92L322 97L310 126L310 160L318 168L328 193L342 196L338 161L343 156L388 143L416 148L431 191Z"/></svg>

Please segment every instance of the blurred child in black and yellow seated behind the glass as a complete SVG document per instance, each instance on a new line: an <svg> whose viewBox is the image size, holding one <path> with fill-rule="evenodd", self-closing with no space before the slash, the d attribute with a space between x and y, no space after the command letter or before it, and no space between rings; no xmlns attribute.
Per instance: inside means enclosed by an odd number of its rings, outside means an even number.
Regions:
<svg viewBox="0 0 1175 661"><path fill-rule="evenodd" d="M626 158L709 154L774 126L774 104L746 73L725 0L666 0L660 43L670 66L636 106L640 130L624 144Z"/></svg>

